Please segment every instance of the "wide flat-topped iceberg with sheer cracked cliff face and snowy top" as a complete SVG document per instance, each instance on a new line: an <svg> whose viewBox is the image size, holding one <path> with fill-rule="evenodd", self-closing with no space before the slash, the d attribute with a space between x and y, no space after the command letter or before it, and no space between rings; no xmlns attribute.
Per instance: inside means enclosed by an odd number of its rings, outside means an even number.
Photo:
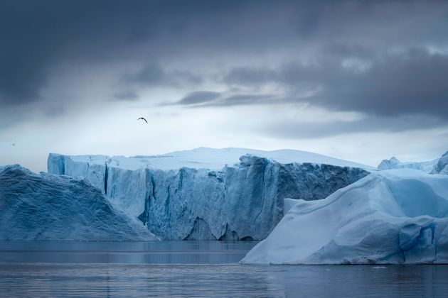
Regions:
<svg viewBox="0 0 448 298"><path fill-rule="evenodd" d="M364 169L303 151L242 148L48 157L49 173L85 177L157 236L186 240L264 239L282 219L284 198L323 199Z"/></svg>

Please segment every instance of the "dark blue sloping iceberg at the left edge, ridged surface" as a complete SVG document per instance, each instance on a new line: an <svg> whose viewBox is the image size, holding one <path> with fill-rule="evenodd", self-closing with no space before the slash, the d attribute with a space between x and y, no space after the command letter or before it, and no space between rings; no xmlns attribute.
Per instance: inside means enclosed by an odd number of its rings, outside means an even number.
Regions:
<svg viewBox="0 0 448 298"><path fill-rule="evenodd" d="M87 180L0 167L0 240L150 241Z"/></svg>

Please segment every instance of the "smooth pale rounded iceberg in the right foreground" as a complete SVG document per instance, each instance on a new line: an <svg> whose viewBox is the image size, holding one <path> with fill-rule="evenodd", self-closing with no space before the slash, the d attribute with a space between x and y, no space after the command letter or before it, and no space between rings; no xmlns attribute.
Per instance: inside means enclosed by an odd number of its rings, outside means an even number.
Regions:
<svg viewBox="0 0 448 298"><path fill-rule="evenodd" d="M241 263L448 263L448 177L385 170L300 200Z"/></svg>

